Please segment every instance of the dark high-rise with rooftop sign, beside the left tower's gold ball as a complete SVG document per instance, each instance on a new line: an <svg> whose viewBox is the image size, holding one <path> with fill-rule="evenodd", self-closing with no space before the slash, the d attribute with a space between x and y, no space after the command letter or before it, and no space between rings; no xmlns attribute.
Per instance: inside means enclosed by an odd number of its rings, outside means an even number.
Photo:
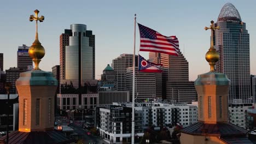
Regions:
<svg viewBox="0 0 256 144"><path fill-rule="evenodd" d="M32 58L28 56L29 46L22 45L17 51L17 67L20 69L31 69L33 66Z"/></svg>

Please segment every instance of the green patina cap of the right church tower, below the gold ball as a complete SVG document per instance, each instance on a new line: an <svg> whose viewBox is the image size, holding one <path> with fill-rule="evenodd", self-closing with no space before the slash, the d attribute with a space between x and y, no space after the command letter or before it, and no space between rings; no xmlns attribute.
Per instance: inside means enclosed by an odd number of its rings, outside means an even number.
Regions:
<svg viewBox="0 0 256 144"><path fill-rule="evenodd" d="M219 86L228 86L230 85L230 80L225 74L217 73L215 71L210 71L205 74L198 75L195 80L195 86L201 85L219 85Z"/></svg>

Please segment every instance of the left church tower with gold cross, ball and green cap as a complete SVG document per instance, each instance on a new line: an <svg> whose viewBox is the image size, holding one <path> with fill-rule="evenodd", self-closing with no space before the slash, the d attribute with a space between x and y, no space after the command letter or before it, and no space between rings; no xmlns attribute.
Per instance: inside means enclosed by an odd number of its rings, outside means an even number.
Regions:
<svg viewBox="0 0 256 144"><path fill-rule="evenodd" d="M34 69L20 74L16 81L19 93L19 130L0 138L8 144L16 143L72 143L75 140L66 137L54 129L54 97L57 80L53 74L39 69L39 62L44 57L45 50L38 39L37 21L42 22L44 16L30 16L30 21L36 21L36 39L28 50L28 55L34 62Z"/></svg>

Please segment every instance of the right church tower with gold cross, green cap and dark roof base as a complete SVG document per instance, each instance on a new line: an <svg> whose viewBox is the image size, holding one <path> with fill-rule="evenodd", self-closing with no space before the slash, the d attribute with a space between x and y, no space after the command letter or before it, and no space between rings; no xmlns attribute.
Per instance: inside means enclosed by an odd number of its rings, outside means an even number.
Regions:
<svg viewBox="0 0 256 144"><path fill-rule="evenodd" d="M215 71L219 53L213 46L213 31L218 31L211 21L211 47L205 57L210 71L198 75L195 88L198 94L198 122L181 130L181 144L189 143L252 143L248 131L229 123L228 96L231 81L225 74ZM206 28L207 29L207 28Z"/></svg>

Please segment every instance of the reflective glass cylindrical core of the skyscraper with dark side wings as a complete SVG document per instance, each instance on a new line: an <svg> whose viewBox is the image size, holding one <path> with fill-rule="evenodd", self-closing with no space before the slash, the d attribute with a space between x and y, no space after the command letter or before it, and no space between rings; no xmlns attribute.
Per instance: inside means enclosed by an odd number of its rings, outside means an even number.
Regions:
<svg viewBox="0 0 256 144"><path fill-rule="evenodd" d="M66 46L66 80L93 80L93 50L86 37L86 25L73 24L71 30L69 46Z"/></svg>

